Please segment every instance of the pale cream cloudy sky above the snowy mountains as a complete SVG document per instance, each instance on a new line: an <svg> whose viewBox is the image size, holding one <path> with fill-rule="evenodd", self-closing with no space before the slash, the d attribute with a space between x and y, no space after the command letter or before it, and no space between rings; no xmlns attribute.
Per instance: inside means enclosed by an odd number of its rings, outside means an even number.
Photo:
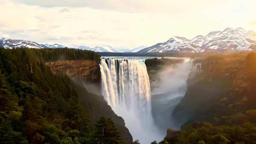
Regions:
<svg viewBox="0 0 256 144"><path fill-rule="evenodd" d="M38 43L155 45L227 27L256 31L256 0L0 0L0 37Z"/></svg>

